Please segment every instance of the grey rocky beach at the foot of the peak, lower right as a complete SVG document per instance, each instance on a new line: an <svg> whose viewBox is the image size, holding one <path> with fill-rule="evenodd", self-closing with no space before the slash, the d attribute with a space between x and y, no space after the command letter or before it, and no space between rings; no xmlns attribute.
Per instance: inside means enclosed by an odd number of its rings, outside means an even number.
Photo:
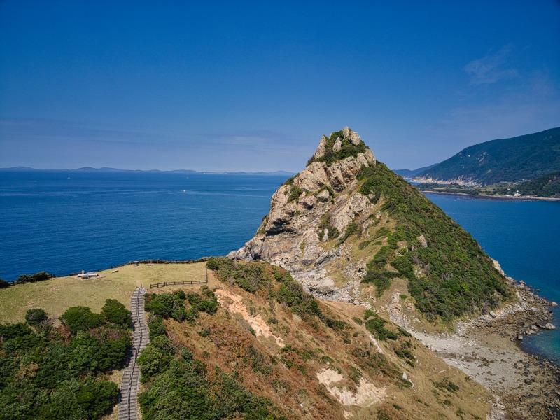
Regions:
<svg viewBox="0 0 560 420"><path fill-rule="evenodd" d="M518 301L472 321L453 334L413 332L449 365L489 388L496 397L492 420L560 418L560 366L519 346L524 335L552 329L554 303L524 282L510 282Z"/></svg>

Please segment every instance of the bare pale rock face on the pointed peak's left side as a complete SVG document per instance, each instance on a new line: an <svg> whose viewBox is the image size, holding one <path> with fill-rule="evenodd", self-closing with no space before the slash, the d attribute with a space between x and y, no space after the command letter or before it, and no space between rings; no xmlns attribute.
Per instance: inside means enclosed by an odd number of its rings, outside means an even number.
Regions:
<svg viewBox="0 0 560 420"><path fill-rule="evenodd" d="M255 237L229 256L272 262L315 295L353 301L365 262L351 262L348 247L334 239L356 219L363 222L363 230L372 222L366 219L374 205L358 192L357 176L375 164L370 148L348 127L323 136L307 167L272 195L269 214ZM329 269L337 261L347 264L347 281L340 287Z"/></svg>

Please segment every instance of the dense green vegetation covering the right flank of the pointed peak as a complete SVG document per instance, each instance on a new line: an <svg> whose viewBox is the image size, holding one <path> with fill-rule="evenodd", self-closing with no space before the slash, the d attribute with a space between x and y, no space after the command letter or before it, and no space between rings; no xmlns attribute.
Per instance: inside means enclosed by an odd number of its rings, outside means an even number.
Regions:
<svg viewBox="0 0 560 420"><path fill-rule="evenodd" d="M510 291L475 239L400 176L382 163L366 167L358 175L360 193L384 199L382 209L397 221L381 247L367 264L364 281L381 290L395 272L409 281L416 307L428 318L455 316L496 307ZM419 237L428 246L421 246ZM400 247L402 241L406 246ZM391 265L396 271L388 270ZM416 275L414 266L423 274Z"/></svg>

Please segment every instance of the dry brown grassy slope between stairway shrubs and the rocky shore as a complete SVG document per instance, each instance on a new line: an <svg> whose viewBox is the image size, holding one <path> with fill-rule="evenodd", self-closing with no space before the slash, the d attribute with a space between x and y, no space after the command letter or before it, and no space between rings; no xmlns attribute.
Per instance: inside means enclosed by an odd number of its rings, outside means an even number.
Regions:
<svg viewBox="0 0 560 420"><path fill-rule="evenodd" d="M275 277L275 272L285 273L262 262L239 263L216 272L222 280L216 284L228 295L240 297L252 319L265 321L274 335L283 339L283 349L272 337L253 335L247 318L232 309L232 300L226 298L216 314L200 312L193 323L165 320L167 335L178 351L176 357L181 358L183 348L191 351L195 360L206 365L211 383L216 380L216 367L234 374L244 388L272 402L278 414L289 419L342 419L345 413L355 419L486 418L486 391L416 339L386 323L384 328L396 338L379 341L384 351L381 355L370 340L377 332L365 327L363 307L312 300L327 318L344 325L329 327L316 316L308 298L303 304L297 298L285 299L286 290L281 285L286 283L276 280L281 276ZM288 288L293 292L288 293L291 297L301 293L297 286ZM414 354L412 365L397 355L403 347ZM344 377L335 388L353 393L363 377L376 388L384 388L386 397L373 405L341 405L316 377L325 369ZM402 372L407 372L414 386L402 380ZM442 386L448 381L456 384L458 391ZM157 381L155 384L159 386ZM146 389L151 386L146 384Z"/></svg>

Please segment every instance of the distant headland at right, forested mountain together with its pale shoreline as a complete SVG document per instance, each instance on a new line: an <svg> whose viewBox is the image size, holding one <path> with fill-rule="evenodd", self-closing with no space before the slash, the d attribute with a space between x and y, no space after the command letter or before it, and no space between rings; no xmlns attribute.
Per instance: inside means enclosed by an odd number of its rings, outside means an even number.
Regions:
<svg viewBox="0 0 560 420"><path fill-rule="evenodd" d="M560 127L486 141L436 165L395 172L435 193L560 198Z"/></svg>

